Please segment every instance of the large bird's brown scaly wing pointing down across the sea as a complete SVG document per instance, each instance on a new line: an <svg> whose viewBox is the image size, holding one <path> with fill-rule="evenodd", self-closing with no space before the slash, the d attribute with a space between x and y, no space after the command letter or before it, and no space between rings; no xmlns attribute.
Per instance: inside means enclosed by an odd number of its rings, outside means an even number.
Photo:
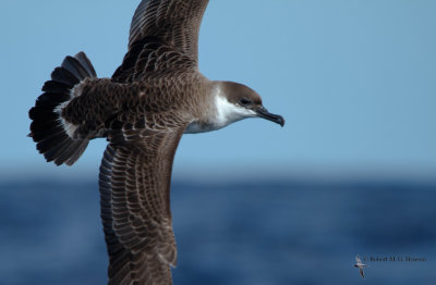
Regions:
<svg viewBox="0 0 436 285"><path fill-rule="evenodd" d="M132 139L123 132L128 139L106 149L99 184L109 284L171 284L170 182L183 131L133 132Z"/></svg>

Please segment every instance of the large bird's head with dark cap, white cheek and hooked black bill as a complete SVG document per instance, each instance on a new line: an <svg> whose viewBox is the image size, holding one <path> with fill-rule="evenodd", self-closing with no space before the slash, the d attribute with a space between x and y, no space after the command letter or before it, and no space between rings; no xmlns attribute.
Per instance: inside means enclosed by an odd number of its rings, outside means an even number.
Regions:
<svg viewBox="0 0 436 285"><path fill-rule="evenodd" d="M220 127L246 117L262 117L284 125L284 119L269 113L262 104L261 96L250 87L233 82L219 82L217 90L215 104Z"/></svg>

